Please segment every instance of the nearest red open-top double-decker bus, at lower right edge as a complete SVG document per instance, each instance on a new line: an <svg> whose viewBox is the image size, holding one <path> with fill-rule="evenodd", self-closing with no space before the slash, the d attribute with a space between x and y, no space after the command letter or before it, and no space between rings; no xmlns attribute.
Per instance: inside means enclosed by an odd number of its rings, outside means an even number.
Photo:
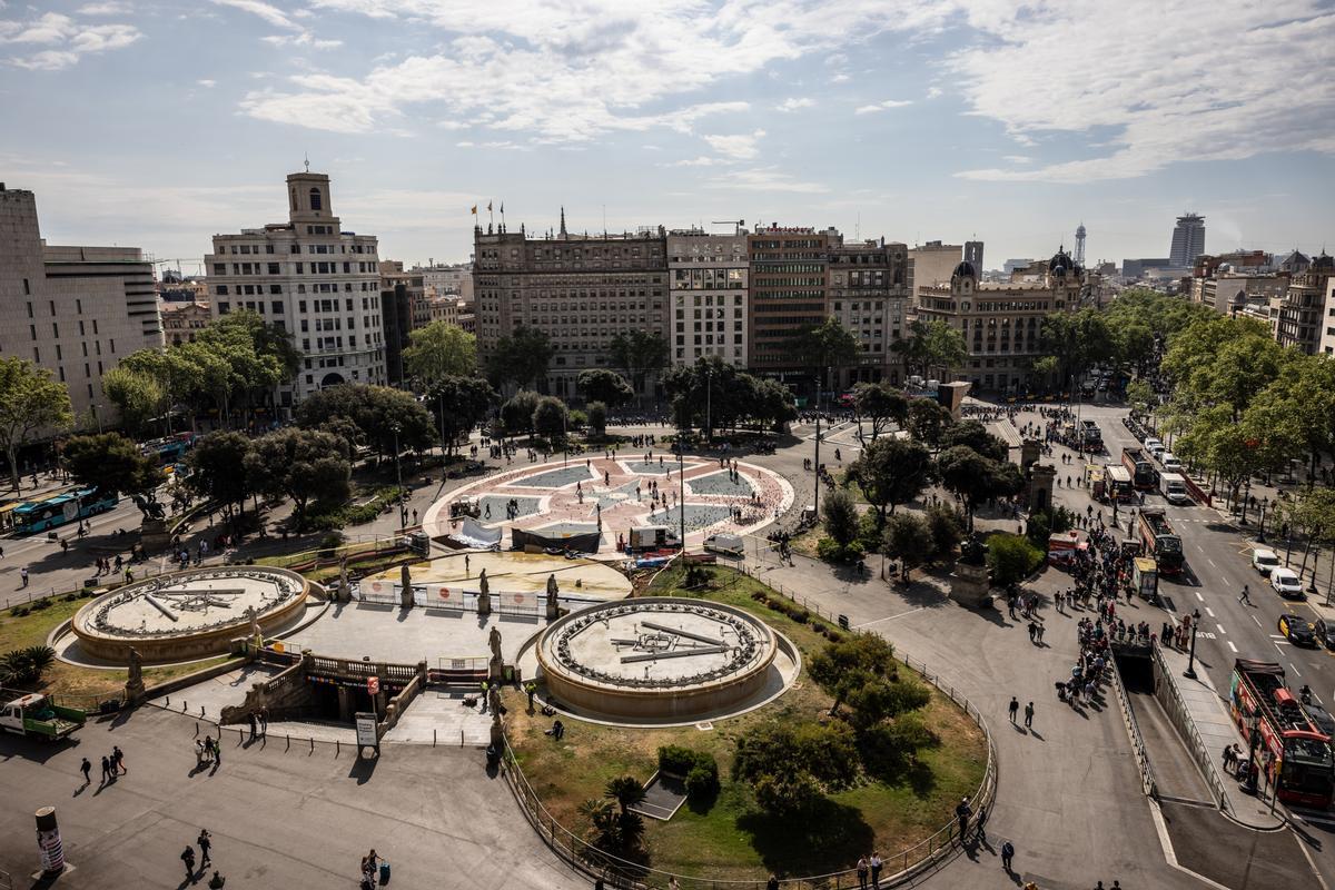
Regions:
<svg viewBox="0 0 1335 890"><path fill-rule="evenodd" d="M1335 789L1331 741L1284 686L1284 669L1274 662L1239 658L1234 663L1228 705L1248 747L1258 751L1266 775L1279 789L1279 799L1327 809ZM1251 738L1254 715L1256 739Z"/></svg>

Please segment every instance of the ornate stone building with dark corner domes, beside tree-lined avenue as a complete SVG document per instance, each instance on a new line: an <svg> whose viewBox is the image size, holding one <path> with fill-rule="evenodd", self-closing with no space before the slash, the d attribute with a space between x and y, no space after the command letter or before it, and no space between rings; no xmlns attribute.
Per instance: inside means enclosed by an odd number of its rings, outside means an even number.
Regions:
<svg viewBox="0 0 1335 890"><path fill-rule="evenodd" d="M1043 319L1079 307L1084 271L1065 252L1048 260L1041 282L983 283L969 263L959 263L951 283L920 288L918 316L940 319L964 336L968 352L957 379L975 390L1024 392L1043 380L1031 370L1043 355Z"/></svg>

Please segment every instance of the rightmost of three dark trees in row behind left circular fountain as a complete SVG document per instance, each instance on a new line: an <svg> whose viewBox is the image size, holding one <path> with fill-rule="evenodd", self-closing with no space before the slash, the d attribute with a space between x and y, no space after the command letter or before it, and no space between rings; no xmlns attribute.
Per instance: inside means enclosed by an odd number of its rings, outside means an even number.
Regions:
<svg viewBox="0 0 1335 890"><path fill-rule="evenodd" d="M286 427L260 436L246 455L246 474L258 491L292 500L298 528L307 504L342 503L351 494L351 466L338 440L319 430Z"/></svg>

